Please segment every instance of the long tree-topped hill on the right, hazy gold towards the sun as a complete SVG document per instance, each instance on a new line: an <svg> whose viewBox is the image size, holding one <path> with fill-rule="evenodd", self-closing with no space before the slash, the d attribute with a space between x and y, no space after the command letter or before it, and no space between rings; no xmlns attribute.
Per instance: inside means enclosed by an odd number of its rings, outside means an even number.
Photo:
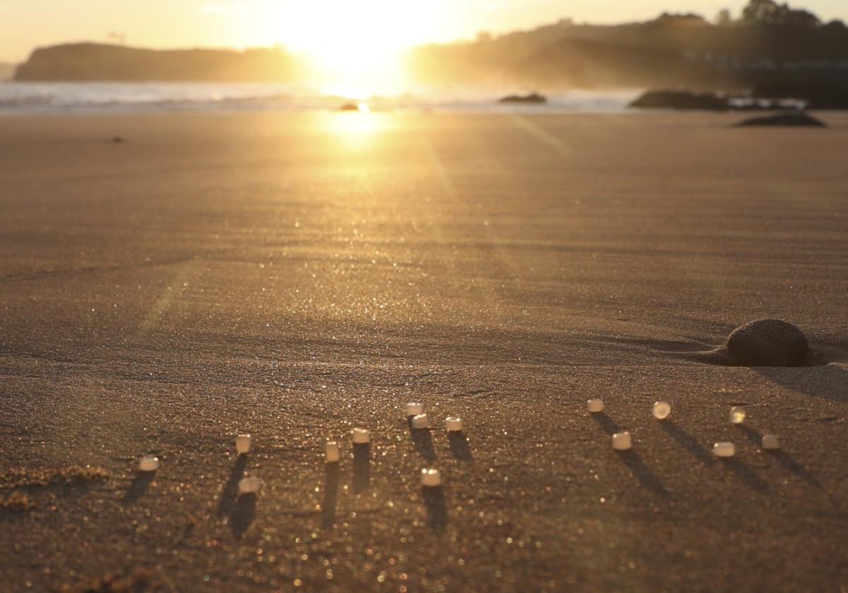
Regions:
<svg viewBox="0 0 848 593"><path fill-rule="evenodd" d="M533 86L706 86L848 82L848 28L772 0L750 0L734 18L661 14L624 25L563 19L471 42L432 44L410 54L416 77L433 84Z"/></svg>

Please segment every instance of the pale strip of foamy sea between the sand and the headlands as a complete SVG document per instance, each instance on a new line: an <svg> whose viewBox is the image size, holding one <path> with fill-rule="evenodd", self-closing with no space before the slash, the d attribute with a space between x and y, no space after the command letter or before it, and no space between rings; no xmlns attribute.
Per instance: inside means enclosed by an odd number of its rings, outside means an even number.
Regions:
<svg viewBox="0 0 848 593"><path fill-rule="evenodd" d="M471 113L621 113L639 90L546 93L544 104L502 104L486 91L407 93L365 99L374 110ZM504 93L507 94L507 93ZM338 109L344 97L275 84L0 82L0 115L146 114Z"/></svg>

